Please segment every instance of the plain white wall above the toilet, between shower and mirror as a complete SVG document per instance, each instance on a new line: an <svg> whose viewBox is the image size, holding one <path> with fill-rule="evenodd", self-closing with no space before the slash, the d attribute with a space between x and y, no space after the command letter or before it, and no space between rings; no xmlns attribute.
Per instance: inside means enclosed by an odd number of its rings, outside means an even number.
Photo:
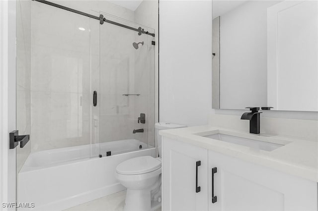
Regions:
<svg viewBox="0 0 318 211"><path fill-rule="evenodd" d="M159 1L159 121L208 123L212 1Z"/></svg>

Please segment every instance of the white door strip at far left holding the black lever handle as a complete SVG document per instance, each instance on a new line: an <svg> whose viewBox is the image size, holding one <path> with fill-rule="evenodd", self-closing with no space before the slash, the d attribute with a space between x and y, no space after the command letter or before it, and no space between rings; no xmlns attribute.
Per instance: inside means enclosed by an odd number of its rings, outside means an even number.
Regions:
<svg viewBox="0 0 318 211"><path fill-rule="evenodd" d="M15 130L15 1L0 1L0 210L15 203L15 156L9 132Z"/></svg>

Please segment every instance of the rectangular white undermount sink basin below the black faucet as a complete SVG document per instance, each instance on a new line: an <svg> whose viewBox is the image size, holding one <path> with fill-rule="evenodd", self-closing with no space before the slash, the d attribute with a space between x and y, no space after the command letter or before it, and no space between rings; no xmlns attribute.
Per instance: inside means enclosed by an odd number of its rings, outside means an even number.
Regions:
<svg viewBox="0 0 318 211"><path fill-rule="evenodd" d="M216 133L212 135L206 135L204 137L211 138L211 139L216 139L224 142L229 142L232 144L238 144L246 147L250 147L253 149L258 149L258 150L264 150L264 151L273 151L277 148L280 148L282 144L275 144L275 143L270 143L270 142L264 142L264 141L258 141L255 139L247 139L247 138L242 138L238 136L230 136L222 133Z"/></svg>

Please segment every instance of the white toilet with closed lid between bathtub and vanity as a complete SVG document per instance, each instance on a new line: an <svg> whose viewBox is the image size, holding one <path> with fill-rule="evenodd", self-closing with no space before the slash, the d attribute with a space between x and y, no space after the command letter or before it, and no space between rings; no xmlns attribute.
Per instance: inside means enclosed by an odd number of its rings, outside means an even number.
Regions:
<svg viewBox="0 0 318 211"><path fill-rule="evenodd" d="M161 202L161 136L159 130L186 127L166 122L155 124L159 158L141 156L116 167L117 180L127 188L124 211L154 211Z"/></svg>

